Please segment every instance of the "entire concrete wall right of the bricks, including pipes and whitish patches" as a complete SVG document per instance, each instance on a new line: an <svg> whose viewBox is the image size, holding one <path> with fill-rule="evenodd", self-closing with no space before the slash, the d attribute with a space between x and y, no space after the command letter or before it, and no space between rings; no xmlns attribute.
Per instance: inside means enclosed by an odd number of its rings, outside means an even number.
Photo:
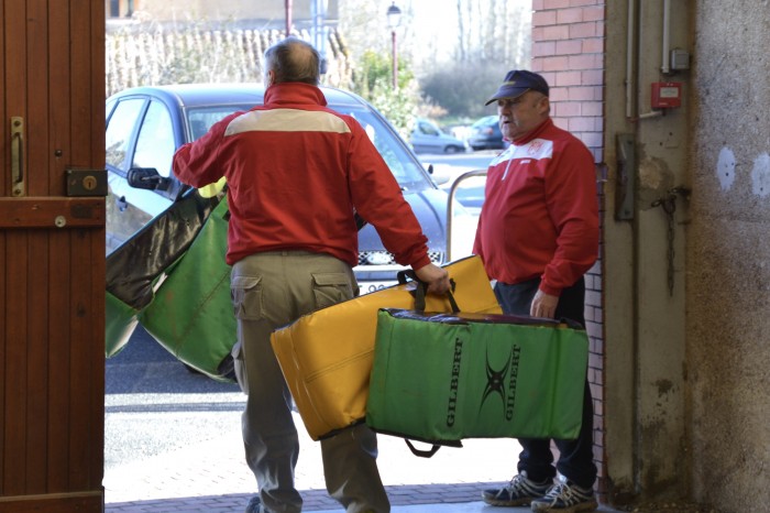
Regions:
<svg viewBox="0 0 770 513"><path fill-rule="evenodd" d="M691 53L689 72L661 70L666 4L670 47ZM686 498L726 513L770 502L768 9L748 0L607 2L603 279L614 502ZM684 91L666 116L650 109L658 80ZM630 138L637 159L624 220L610 207L620 197L618 135ZM692 194L670 196L675 186ZM667 197L676 198L671 232L654 206Z"/></svg>

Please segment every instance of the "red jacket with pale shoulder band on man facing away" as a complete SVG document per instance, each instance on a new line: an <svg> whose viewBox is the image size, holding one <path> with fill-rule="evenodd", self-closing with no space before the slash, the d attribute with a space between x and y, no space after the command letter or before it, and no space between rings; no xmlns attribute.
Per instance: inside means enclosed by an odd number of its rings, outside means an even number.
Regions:
<svg viewBox="0 0 770 513"><path fill-rule="evenodd" d="M318 87L276 84L264 106L224 118L174 155L185 184L227 178L227 262L305 250L354 266L356 210L399 264L427 265L428 239L387 164L358 121L326 105Z"/></svg>

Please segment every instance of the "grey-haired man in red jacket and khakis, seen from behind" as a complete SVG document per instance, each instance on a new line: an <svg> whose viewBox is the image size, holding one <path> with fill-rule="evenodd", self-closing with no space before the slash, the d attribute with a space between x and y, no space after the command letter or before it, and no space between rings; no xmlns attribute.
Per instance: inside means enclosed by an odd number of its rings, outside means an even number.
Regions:
<svg viewBox="0 0 770 513"><path fill-rule="evenodd" d="M229 187L235 362L248 394L243 440L260 488L246 513L301 511L292 396L270 335L358 294L354 212L429 292L449 290L447 271L430 263L427 238L366 132L326 107L319 62L298 39L275 44L265 52L264 106L224 118L174 157L182 182L201 187L224 176ZM327 489L349 513L391 510L376 437L365 425L321 440L321 452Z"/></svg>

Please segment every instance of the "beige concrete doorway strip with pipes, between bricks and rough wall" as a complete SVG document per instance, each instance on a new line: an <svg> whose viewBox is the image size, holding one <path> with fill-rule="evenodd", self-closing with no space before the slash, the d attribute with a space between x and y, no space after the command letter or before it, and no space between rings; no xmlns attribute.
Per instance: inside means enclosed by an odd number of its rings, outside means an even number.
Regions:
<svg viewBox="0 0 770 513"><path fill-rule="evenodd" d="M688 201L671 190L688 185L686 101L651 106L651 84L664 73L669 46L691 50L689 6L607 2L605 68L608 208L605 216L606 452L614 502L688 495L685 437L685 272ZM629 11L632 14L629 18ZM668 20L668 23L666 21ZM668 55L668 53L667 53ZM625 139L625 143L619 142ZM626 144L631 160L619 163ZM623 172L627 172L624 179ZM625 194L628 209L616 207ZM675 208L671 222L662 200Z"/></svg>

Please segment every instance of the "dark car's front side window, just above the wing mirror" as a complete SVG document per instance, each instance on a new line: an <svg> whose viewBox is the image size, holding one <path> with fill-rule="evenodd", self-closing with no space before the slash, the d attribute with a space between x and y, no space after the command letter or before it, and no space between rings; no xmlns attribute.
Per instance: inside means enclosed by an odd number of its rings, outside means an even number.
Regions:
<svg viewBox="0 0 770 513"><path fill-rule="evenodd" d="M174 128L163 103L152 101L136 138L132 167L155 167L161 176L170 176L174 159Z"/></svg>

